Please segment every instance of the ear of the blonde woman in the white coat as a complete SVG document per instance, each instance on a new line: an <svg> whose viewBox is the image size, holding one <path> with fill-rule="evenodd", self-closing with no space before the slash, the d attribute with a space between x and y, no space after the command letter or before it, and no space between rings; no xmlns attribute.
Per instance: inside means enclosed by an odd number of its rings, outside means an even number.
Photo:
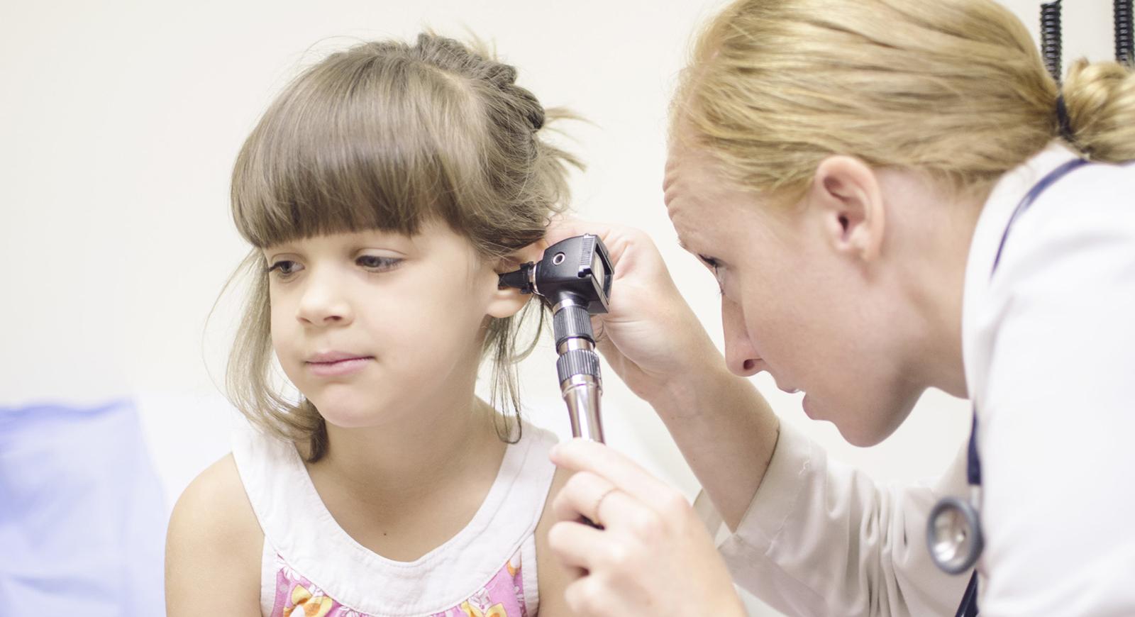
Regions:
<svg viewBox="0 0 1135 617"><path fill-rule="evenodd" d="M821 161L808 189L808 202L823 218L832 248L874 261L883 246L884 208L875 170L854 157Z"/></svg>

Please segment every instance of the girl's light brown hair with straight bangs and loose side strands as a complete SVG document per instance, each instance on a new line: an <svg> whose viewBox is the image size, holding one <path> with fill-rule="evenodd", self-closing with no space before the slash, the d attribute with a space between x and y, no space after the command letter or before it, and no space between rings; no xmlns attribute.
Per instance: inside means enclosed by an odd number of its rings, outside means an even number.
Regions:
<svg viewBox="0 0 1135 617"><path fill-rule="evenodd" d="M484 48L478 43L478 48ZM438 220L497 261L544 238L569 198L579 161L539 135L545 110L515 83L516 69L452 39L381 41L333 53L276 98L241 149L233 170L233 219L253 246L253 277L229 356L227 390L254 424L306 442L309 460L327 450L327 428L305 398L274 388L271 307L261 248L322 234L380 229L413 235ZM239 270L238 270L239 272ZM531 352L516 318L485 333L494 403L519 415L514 363ZM519 423L516 423L519 429ZM515 438L510 426L502 439Z"/></svg>

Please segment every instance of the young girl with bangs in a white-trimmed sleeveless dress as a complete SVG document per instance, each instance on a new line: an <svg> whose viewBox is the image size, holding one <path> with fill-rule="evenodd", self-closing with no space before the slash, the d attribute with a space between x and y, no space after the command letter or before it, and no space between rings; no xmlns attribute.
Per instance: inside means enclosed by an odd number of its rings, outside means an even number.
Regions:
<svg viewBox="0 0 1135 617"><path fill-rule="evenodd" d="M563 611L554 439L511 369L529 297L497 273L539 256L578 163L515 76L435 35L364 43L249 136L232 201L259 271L228 386L251 426L175 507L170 616ZM511 414L473 394L487 354Z"/></svg>

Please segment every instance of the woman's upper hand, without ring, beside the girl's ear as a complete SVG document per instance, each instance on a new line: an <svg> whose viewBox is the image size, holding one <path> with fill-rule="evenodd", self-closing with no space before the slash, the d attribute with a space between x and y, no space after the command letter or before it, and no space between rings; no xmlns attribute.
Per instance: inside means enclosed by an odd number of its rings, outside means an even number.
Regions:
<svg viewBox="0 0 1135 617"><path fill-rule="evenodd" d="M627 386L651 405L669 403L670 388L686 387L700 372L725 362L674 286L654 242L639 229L574 219L548 228L554 244L595 234L614 268L607 314L591 319L599 352Z"/></svg>

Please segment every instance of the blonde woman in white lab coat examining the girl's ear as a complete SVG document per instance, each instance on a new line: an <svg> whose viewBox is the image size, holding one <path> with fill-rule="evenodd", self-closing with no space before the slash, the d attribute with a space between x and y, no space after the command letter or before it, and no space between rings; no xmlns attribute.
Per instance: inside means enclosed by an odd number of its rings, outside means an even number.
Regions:
<svg viewBox="0 0 1135 617"><path fill-rule="evenodd" d="M571 606L743 615L732 577L793 615L972 614L974 586L983 615L1135 615L1133 158L1132 71L1079 62L1059 87L992 0L728 7L683 71L664 181L721 285L724 362L644 234L549 237L611 250L600 349L725 539L615 451L564 443ZM762 371L857 446L926 388L968 397L972 448L936 485L877 487L777 422L743 379ZM927 543L949 496L952 575Z"/></svg>

